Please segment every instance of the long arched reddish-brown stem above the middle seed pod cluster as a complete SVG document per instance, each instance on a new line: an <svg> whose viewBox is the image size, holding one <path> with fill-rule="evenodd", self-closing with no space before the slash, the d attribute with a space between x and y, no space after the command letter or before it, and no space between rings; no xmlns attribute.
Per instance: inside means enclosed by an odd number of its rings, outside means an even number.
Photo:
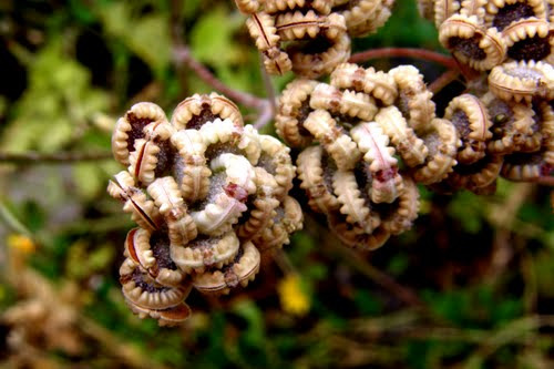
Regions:
<svg viewBox="0 0 554 369"><path fill-rule="evenodd" d="M359 63L371 59L399 58L399 57L428 60L431 62L442 64L448 69L458 69L458 63L452 57L444 55L431 50L410 49L410 48L381 48L381 49L362 51L351 55L349 62Z"/></svg>

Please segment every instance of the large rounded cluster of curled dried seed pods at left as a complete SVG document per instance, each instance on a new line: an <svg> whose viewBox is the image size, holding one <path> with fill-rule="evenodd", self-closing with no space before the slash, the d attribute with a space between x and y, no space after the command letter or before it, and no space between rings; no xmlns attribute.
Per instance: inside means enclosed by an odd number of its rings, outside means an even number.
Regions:
<svg viewBox="0 0 554 369"><path fill-rule="evenodd" d="M246 286L260 252L287 244L302 226L288 196L289 148L245 126L222 95L184 100L171 122L160 106L137 103L117 121L112 147L127 170L107 192L138 225L127 234L120 280L141 317L178 324L191 314L192 288Z"/></svg>

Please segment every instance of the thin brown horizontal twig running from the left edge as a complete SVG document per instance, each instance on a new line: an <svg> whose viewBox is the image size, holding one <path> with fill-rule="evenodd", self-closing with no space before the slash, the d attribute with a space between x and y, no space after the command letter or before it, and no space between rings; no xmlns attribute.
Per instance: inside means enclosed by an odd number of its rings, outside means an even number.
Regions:
<svg viewBox="0 0 554 369"><path fill-rule="evenodd" d="M40 153L35 151L30 151L25 153L0 153L0 163L29 164L29 165L105 161L110 158L112 158L111 152Z"/></svg>

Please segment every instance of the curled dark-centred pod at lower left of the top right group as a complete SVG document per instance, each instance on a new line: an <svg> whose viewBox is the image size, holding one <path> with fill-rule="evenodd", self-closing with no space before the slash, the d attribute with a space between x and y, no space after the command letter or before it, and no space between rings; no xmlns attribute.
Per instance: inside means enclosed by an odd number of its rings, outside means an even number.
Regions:
<svg viewBox="0 0 554 369"><path fill-rule="evenodd" d="M454 14L439 29L439 41L471 68L485 71L502 63L506 55L504 38L495 28L484 30L475 16Z"/></svg>

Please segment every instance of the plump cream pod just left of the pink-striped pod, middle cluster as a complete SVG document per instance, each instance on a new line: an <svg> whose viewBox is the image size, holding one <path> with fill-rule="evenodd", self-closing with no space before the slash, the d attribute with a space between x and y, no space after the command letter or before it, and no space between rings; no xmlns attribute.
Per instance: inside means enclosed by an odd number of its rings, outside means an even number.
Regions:
<svg viewBox="0 0 554 369"><path fill-rule="evenodd" d="M360 152L329 112L315 110L308 115L304 125L321 143L339 170L348 171L355 167L360 158Z"/></svg>

